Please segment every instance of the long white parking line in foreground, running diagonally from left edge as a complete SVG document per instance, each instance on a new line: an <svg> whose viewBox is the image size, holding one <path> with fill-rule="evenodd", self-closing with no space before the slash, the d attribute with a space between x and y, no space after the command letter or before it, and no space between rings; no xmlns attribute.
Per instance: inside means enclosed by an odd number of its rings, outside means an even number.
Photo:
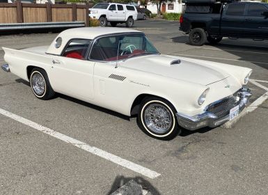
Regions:
<svg viewBox="0 0 268 195"><path fill-rule="evenodd" d="M66 143L70 143L70 144L72 144L72 146L76 146L77 148L81 148L83 150L86 150L88 153L91 153L93 155L97 155L99 157L107 159L111 162L119 164L120 166L124 166L125 168L130 169L132 171L135 171L136 173L140 173L141 175L146 176L148 178L154 179L154 178L157 178L158 176L160 176L159 173L152 171L150 169L147 169L139 164L135 164L133 162L128 161L127 159L123 159L123 158L118 157L116 155L112 155L111 153L107 153L106 151L101 150L99 148L89 146L87 143L81 142L77 139L73 139L72 137L68 137L65 134L61 134L59 132L51 130L48 127L44 127L42 125L39 125L38 123L34 123L31 120L23 118L22 116L17 116L16 114L13 114L13 113L6 111L4 109L0 108L0 114L3 114L4 116L7 116L7 117L12 118L14 120L17 120L19 123L23 123L24 125L28 125L29 127L32 127L33 129L36 129L40 132L43 132L45 134L49 134L50 136L55 137L56 139L60 139L61 141L65 141Z"/></svg>

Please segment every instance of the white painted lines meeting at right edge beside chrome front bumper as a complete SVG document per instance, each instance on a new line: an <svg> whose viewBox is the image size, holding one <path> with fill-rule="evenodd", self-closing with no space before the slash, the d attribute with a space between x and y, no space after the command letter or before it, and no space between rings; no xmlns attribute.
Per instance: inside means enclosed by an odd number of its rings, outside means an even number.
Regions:
<svg viewBox="0 0 268 195"><path fill-rule="evenodd" d="M231 128L233 125L235 125L235 123L237 123L237 121L239 120L239 118L242 118L242 116L245 116L246 114L250 113L251 111L254 111L255 109L258 108L258 106L260 106L260 104L262 104L263 102L265 102L265 100L268 99L268 88L266 86L262 86L261 84L259 84L258 82L256 82L256 80L250 79L249 80L252 84L254 84L255 86L258 86L260 88L265 89L267 92L264 93L263 95L260 96L260 98L258 98L257 100L255 100L254 102L252 102L249 107L246 107L240 114L239 116L237 116L234 120L230 120L227 123L224 123L223 125L221 125L221 127L223 128Z"/></svg>

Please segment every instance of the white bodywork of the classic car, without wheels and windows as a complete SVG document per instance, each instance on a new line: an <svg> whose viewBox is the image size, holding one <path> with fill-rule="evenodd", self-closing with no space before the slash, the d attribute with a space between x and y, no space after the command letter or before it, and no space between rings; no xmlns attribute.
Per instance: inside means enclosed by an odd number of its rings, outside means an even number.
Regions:
<svg viewBox="0 0 268 195"><path fill-rule="evenodd" d="M3 48L4 59L8 70L26 81L29 81L29 68L42 68L54 91L126 116L136 114L135 107L139 104L136 105L135 100L142 95L164 98L175 108L179 125L189 130L215 127L228 121L229 114L216 118L207 110L217 102L236 98L233 103L239 105L239 111L248 102L251 94L243 86L245 78L249 78L249 68L164 54L118 61L61 56L65 45L74 38L95 42L102 36L115 34L143 33L122 28L69 29L60 33L50 46L22 50ZM56 48L59 37L62 44ZM200 105L198 98L207 88L205 102ZM222 109L228 109L228 113L231 108Z"/></svg>

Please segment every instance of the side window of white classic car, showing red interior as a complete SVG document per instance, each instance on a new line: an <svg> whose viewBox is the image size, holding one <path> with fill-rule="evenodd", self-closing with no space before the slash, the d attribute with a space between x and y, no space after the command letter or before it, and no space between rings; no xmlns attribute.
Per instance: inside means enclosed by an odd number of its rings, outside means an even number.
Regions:
<svg viewBox="0 0 268 195"><path fill-rule="evenodd" d="M91 40L72 40L69 42L68 46L65 48L62 56L71 59L84 60L86 58L86 52L91 43Z"/></svg>

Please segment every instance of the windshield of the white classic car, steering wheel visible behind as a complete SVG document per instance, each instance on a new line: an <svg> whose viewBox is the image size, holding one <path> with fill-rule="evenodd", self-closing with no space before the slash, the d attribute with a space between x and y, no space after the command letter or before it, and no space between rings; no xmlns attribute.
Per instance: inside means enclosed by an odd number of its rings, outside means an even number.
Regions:
<svg viewBox="0 0 268 195"><path fill-rule="evenodd" d="M116 61L130 57L159 54L143 34L107 36L95 41L90 59Z"/></svg>

